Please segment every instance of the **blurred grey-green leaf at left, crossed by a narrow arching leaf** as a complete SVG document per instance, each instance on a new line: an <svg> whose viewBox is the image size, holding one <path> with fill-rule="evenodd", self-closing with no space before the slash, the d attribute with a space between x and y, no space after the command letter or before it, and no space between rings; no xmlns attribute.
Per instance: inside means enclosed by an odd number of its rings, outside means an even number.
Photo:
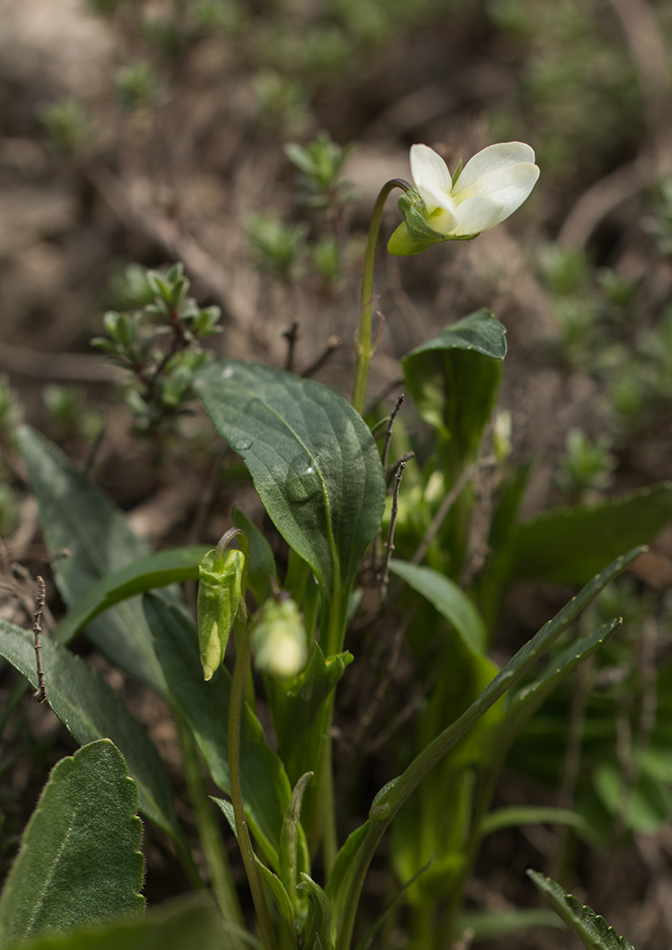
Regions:
<svg viewBox="0 0 672 950"><path fill-rule="evenodd" d="M54 578L66 604L74 604L101 578L149 554L113 502L77 471L57 446L34 429L19 430L19 448L37 498L40 524L54 561ZM114 664L135 679L165 692L142 607L126 601L87 635Z"/></svg>

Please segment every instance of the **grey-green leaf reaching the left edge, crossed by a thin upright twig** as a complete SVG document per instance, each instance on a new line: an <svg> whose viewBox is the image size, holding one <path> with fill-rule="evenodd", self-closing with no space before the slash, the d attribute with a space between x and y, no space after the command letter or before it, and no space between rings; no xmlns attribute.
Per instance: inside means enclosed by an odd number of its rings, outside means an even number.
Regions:
<svg viewBox="0 0 672 950"><path fill-rule="evenodd" d="M0 620L0 654L37 688L32 634ZM138 786L140 810L186 848L163 762L145 730L111 686L69 650L42 638L47 702L81 745L111 739Z"/></svg>

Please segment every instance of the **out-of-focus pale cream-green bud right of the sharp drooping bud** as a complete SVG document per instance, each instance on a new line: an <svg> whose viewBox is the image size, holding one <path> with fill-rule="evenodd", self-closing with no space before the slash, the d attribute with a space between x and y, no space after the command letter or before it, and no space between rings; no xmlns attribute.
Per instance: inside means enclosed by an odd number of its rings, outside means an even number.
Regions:
<svg viewBox="0 0 672 950"><path fill-rule="evenodd" d="M272 676L296 676L308 659L307 639L295 601L267 600L252 632L257 668Z"/></svg>

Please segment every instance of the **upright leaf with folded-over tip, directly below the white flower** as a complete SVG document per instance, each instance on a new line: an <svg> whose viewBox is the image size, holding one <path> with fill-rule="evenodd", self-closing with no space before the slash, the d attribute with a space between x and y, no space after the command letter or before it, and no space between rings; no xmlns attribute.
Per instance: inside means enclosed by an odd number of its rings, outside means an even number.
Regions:
<svg viewBox="0 0 672 950"><path fill-rule="evenodd" d="M478 310L402 360L418 412L451 443L448 477L475 457L501 378L505 333L489 310Z"/></svg>

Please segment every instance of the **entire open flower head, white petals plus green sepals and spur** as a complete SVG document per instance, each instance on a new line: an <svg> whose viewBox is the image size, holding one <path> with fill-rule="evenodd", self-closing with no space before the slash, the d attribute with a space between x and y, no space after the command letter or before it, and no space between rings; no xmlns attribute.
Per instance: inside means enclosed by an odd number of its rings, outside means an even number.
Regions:
<svg viewBox="0 0 672 950"><path fill-rule="evenodd" d="M489 145L452 176L433 149L413 145L411 173L415 187L399 198L405 220L387 245L399 256L494 228L521 206L539 178L534 150L524 142Z"/></svg>

